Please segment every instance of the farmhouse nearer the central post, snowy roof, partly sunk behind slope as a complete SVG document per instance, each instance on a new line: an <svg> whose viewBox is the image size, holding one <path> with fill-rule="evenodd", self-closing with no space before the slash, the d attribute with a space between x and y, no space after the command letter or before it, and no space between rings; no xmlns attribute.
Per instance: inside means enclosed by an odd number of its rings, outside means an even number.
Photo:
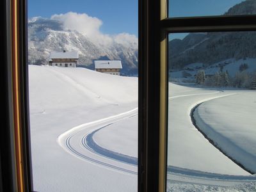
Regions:
<svg viewBox="0 0 256 192"><path fill-rule="evenodd" d="M113 60L106 60L106 61L94 61L95 70L97 72L102 72L105 74L111 74L120 76L120 70L122 69L121 61L113 61Z"/></svg>

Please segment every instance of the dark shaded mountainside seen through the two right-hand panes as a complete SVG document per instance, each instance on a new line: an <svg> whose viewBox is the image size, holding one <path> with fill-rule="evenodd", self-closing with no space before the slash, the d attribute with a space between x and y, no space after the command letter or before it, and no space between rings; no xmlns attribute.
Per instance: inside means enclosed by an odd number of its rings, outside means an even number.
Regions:
<svg viewBox="0 0 256 192"><path fill-rule="evenodd" d="M225 15L256 14L256 1L236 4ZM256 58L256 32L189 33L183 40L169 42L170 69L181 69L191 63L213 65L225 60Z"/></svg>

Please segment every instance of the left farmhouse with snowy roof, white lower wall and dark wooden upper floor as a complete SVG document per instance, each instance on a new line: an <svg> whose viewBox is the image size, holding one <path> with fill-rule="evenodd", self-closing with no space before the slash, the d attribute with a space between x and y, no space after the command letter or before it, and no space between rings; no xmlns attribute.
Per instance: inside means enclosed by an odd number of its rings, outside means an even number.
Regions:
<svg viewBox="0 0 256 192"><path fill-rule="evenodd" d="M76 67L77 60L77 51L51 52L49 57L49 65L58 67Z"/></svg>

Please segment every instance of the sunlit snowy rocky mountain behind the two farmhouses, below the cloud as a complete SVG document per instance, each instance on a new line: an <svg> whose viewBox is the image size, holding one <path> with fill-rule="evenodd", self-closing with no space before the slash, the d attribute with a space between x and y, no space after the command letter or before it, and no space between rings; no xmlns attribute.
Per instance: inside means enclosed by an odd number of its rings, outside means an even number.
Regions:
<svg viewBox="0 0 256 192"><path fill-rule="evenodd" d="M122 60L124 74L136 74L138 39L125 39L126 33L108 35L108 42L97 42L85 34L64 27L54 18L33 17L28 20L28 63L44 65L51 51L78 51L79 65L93 68L93 60Z"/></svg>

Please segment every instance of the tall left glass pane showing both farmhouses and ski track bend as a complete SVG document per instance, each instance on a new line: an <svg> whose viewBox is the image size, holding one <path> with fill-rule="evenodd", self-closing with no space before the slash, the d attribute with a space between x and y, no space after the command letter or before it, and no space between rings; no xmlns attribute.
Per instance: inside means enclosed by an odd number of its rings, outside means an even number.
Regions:
<svg viewBox="0 0 256 192"><path fill-rule="evenodd" d="M28 17L35 191L137 191L138 1L29 0Z"/></svg>

